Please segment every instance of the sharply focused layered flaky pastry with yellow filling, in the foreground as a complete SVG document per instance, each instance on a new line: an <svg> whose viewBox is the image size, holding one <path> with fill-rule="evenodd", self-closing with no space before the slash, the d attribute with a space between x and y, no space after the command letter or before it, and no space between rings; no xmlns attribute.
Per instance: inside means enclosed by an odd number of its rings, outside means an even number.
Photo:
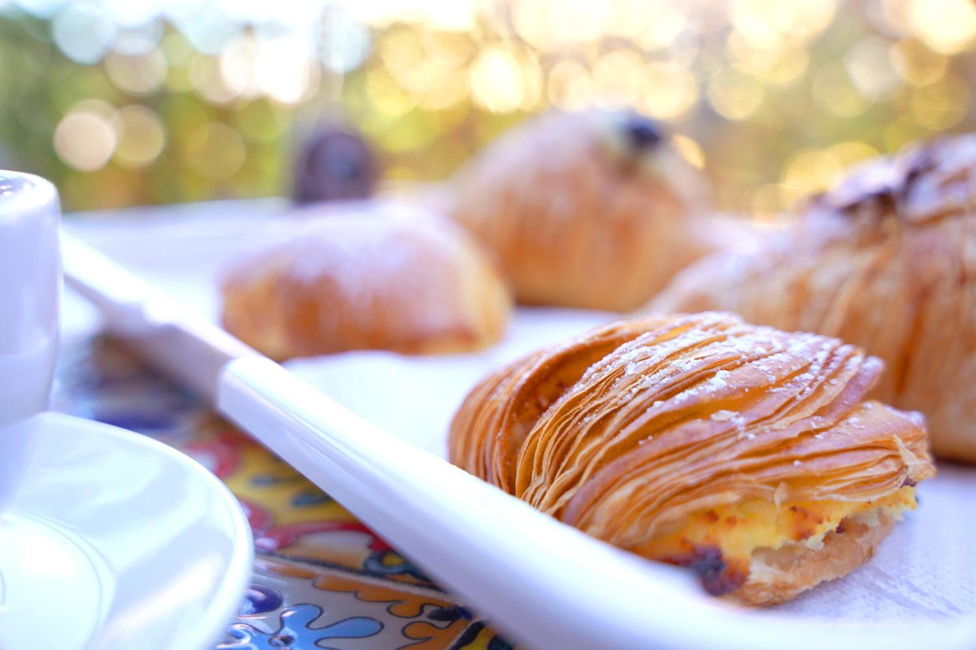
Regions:
<svg viewBox="0 0 976 650"><path fill-rule="evenodd" d="M709 312L646 316L476 386L451 460L713 594L768 605L871 557L933 475L924 420L854 345Z"/></svg>

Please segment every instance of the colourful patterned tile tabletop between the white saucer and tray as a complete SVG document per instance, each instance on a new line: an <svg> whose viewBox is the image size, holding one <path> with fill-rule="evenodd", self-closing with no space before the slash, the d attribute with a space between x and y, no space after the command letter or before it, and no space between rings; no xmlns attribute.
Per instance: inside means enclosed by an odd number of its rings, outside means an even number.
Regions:
<svg viewBox="0 0 976 650"><path fill-rule="evenodd" d="M67 346L54 405L172 444L237 496L258 554L219 648L508 650L345 508L122 345Z"/></svg>

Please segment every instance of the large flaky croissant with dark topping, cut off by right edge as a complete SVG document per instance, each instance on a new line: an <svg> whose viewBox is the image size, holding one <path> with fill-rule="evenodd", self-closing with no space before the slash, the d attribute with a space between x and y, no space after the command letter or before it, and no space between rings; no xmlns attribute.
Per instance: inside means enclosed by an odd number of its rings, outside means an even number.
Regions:
<svg viewBox="0 0 976 650"><path fill-rule="evenodd" d="M728 309L884 360L872 396L925 414L932 451L976 462L976 135L881 158L751 254L716 254L650 309Z"/></svg>

